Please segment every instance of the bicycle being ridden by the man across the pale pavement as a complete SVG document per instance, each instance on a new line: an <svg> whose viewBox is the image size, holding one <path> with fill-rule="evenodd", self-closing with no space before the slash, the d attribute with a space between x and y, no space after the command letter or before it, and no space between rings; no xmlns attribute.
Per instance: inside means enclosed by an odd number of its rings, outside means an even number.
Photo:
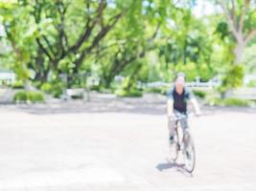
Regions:
<svg viewBox="0 0 256 191"><path fill-rule="evenodd" d="M192 173L196 165L195 144L188 128L182 127L181 122L183 119L187 119L191 115L176 113L175 116L175 136L172 144L172 146L175 146L175 157L172 156L172 159L176 161L179 152L182 152L183 159L185 161L184 169L188 173ZM180 129L181 131L179 131Z"/></svg>

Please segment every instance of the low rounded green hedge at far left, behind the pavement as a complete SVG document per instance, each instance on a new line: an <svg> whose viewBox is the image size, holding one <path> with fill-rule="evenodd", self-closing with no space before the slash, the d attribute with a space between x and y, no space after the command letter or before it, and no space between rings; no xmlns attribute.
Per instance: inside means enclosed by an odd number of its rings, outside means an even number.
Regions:
<svg viewBox="0 0 256 191"><path fill-rule="evenodd" d="M14 102L44 102L45 97L40 92L19 91L13 97Z"/></svg>

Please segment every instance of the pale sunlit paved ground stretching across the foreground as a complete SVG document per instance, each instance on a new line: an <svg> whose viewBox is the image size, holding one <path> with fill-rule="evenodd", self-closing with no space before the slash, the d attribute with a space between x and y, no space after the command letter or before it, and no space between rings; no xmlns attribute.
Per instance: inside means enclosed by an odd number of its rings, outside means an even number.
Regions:
<svg viewBox="0 0 256 191"><path fill-rule="evenodd" d="M0 107L0 191L255 190L253 111L191 120L198 163L190 177L166 160L162 113L65 110Z"/></svg>

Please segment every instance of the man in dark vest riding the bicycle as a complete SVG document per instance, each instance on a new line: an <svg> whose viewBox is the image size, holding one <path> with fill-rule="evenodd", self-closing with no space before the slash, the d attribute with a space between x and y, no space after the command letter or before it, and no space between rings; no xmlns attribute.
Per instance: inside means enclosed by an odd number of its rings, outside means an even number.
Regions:
<svg viewBox="0 0 256 191"><path fill-rule="evenodd" d="M170 131L170 144L174 143L175 136L175 117L176 115L187 115L188 101L190 101L195 109L197 116L201 115L199 104L192 91L185 87L186 77L183 73L175 75L175 86L167 93L167 115L168 115L168 127ZM188 128L187 118L181 120L183 128Z"/></svg>

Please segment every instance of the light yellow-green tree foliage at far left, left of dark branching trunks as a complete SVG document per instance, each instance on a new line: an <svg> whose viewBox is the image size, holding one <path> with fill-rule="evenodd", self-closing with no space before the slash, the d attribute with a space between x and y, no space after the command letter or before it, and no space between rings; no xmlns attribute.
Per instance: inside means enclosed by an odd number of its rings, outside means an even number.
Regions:
<svg viewBox="0 0 256 191"><path fill-rule="evenodd" d="M28 63L35 53L35 33L30 32L35 29L35 25L30 18L30 11L30 7L20 6L16 1L0 3L1 25L5 28L8 45L12 48L6 53L8 65L19 80L30 77Z"/></svg>

